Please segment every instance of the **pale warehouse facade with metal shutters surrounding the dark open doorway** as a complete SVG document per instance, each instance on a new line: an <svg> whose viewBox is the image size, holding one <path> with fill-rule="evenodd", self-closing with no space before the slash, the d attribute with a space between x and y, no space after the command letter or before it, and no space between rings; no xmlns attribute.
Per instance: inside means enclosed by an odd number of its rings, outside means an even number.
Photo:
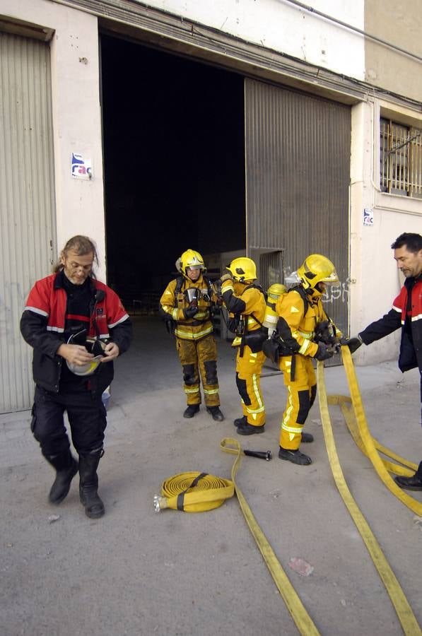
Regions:
<svg viewBox="0 0 422 636"><path fill-rule="evenodd" d="M0 411L32 399L18 319L64 242L94 237L98 276L110 273L102 38L240 78L245 251L264 284L327 254L341 279L328 313L355 334L399 290L389 245L421 232L421 27L420 0L406 11L389 0L0 0ZM357 362L392 358L388 339Z"/></svg>

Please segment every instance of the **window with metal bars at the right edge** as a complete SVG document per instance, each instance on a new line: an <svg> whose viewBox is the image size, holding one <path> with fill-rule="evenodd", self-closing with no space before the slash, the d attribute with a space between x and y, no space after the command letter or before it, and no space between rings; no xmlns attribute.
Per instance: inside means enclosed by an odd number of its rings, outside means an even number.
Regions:
<svg viewBox="0 0 422 636"><path fill-rule="evenodd" d="M380 187L422 199L422 130L381 117Z"/></svg>

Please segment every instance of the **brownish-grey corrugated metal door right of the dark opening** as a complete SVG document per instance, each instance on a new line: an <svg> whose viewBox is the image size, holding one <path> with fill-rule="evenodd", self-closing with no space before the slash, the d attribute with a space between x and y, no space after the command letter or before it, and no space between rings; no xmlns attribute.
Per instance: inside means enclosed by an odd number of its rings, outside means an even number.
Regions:
<svg viewBox="0 0 422 636"><path fill-rule="evenodd" d="M285 275L308 254L329 257L341 288L324 307L345 334L350 146L349 107L245 80L248 254L281 249ZM266 260L259 257L260 270Z"/></svg>

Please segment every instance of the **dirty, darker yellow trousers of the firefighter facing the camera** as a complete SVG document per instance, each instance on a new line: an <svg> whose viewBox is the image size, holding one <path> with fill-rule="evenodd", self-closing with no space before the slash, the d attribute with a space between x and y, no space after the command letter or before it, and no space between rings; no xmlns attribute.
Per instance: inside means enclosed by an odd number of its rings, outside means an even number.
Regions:
<svg viewBox="0 0 422 636"><path fill-rule="evenodd" d="M206 336L200 340L176 338L176 349L182 363L187 404L201 404L201 377L206 406L219 406L217 345L214 336Z"/></svg>

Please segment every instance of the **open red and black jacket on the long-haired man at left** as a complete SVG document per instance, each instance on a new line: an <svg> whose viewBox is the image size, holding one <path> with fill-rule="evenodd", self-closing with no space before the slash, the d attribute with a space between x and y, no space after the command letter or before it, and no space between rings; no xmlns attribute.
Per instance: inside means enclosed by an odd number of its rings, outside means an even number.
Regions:
<svg viewBox="0 0 422 636"><path fill-rule="evenodd" d="M62 273L52 274L37 281L30 290L20 319L20 332L33 347L33 378L36 384L57 393L64 358L57 355L59 346L66 342L67 294L61 281ZM91 300L88 336L110 338L127 351L131 342L131 322L117 294L104 283L89 278ZM113 363L99 365L89 377L93 394L102 394L114 376Z"/></svg>

